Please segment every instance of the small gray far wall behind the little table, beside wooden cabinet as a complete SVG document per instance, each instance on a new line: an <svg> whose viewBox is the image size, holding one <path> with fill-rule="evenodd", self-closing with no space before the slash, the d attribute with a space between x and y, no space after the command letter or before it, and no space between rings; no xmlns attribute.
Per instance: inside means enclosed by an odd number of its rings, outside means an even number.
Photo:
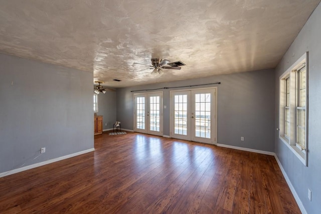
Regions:
<svg viewBox="0 0 321 214"><path fill-rule="evenodd" d="M112 91L98 94L97 115L103 116L103 129L111 129L116 122L116 94L116 92Z"/></svg>

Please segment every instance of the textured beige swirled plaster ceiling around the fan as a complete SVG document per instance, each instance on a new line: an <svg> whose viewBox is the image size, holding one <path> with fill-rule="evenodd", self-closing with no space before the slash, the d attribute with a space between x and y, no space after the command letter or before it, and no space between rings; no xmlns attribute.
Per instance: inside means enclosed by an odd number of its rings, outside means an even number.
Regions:
<svg viewBox="0 0 321 214"><path fill-rule="evenodd" d="M107 87L274 68L320 0L0 0L0 52ZM181 60L161 76L134 62ZM122 80L115 82L113 79Z"/></svg>

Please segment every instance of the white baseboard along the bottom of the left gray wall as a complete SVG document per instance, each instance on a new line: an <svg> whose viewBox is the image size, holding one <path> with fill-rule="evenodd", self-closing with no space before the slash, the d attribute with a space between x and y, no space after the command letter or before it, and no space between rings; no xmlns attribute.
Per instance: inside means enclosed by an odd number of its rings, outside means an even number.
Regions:
<svg viewBox="0 0 321 214"><path fill-rule="evenodd" d="M54 159L51 159L51 160L46 160L46 161L43 161L43 162L40 162L40 163L35 163L35 164L29 165L29 166L24 166L24 167L21 167L21 168L17 168L17 169L13 169L13 170L10 170L10 171L2 172L2 173L0 173L0 177L5 177L7 175L11 175L11 174L15 174L15 173L18 173L18 172L22 172L22 171L25 171L25 170L28 170L28 169L32 169L32 168L36 168L36 167L39 167L39 166L43 166L43 165L46 165L46 164L49 164L49 163L57 162L57 161L64 160L64 159L67 159L67 158L70 158L70 157L75 157L77 155L85 154L85 153L88 153L88 152L91 152L91 151L94 151L94 150L95 150L95 148L91 148L91 149L79 151L79 152L76 152L76 153L73 153L73 154L68 154L68 155L65 155L65 156L62 156L62 157L57 157L57 158L54 158Z"/></svg>

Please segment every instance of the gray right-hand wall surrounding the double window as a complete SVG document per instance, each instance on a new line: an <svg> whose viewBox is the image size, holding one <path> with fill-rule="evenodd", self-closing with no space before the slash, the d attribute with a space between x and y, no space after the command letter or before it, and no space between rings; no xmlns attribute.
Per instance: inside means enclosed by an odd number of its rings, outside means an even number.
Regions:
<svg viewBox="0 0 321 214"><path fill-rule="evenodd" d="M275 131L275 153L294 186L307 213L321 213L321 5L308 19L275 73L275 127L279 121L279 77L308 51L308 166L288 149ZM294 54L294 57L293 57ZM312 201L307 189L312 190Z"/></svg>

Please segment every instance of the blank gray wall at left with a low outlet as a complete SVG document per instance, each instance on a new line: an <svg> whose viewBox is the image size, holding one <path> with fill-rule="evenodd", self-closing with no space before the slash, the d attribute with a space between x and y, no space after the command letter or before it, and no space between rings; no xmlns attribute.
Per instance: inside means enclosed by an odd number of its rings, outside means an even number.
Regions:
<svg viewBox="0 0 321 214"><path fill-rule="evenodd" d="M0 54L0 173L94 147L92 80Z"/></svg>

